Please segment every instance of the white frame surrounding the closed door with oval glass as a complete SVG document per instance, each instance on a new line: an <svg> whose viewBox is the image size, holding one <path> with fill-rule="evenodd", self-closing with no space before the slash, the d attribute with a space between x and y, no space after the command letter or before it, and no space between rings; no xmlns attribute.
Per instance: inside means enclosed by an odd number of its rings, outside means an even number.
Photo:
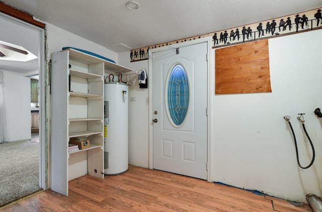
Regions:
<svg viewBox="0 0 322 212"><path fill-rule="evenodd" d="M174 51L176 51L176 48L180 48L180 47L185 47L185 46L191 46L191 45L195 45L195 44L200 44L200 43L208 43L208 48L207 48L207 89L208 89L208 94L207 94L207 108L208 108L208 118L207 118L207 126L208 129L210 128L210 120L211 120L211 115L210 115L210 106L211 106L211 99L210 96L212 94L212 87L210 86L210 78L212 76L211 70L210 70L210 58L211 58L211 49L212 49L212 40L211 37L206 37L206 38L200 38L200 39L196 39L196 40L192 40L192 41L187 41L184 43L178 43L178 44L173 44L170 46L164 46L164 47L159 47L159 48L155 48L155 49L150 49L149 50L149 61L148 61L148 98L149 98L149 112L148 112L148 123L149 123L149 169L153 169L153 124L152 124L152 117L153 117L153 97L152 97L152 91L153 91L153 83L152 83L152 79L153 79L153 70L152 70L152 57L153 57L153 53L156 52L162 52L165 50L169 50L169 49L173 49ZM207 180L211 181L212 177L211 177L211 140L210 140L210 135L211 135L211 130L207 130Z"/></svg>

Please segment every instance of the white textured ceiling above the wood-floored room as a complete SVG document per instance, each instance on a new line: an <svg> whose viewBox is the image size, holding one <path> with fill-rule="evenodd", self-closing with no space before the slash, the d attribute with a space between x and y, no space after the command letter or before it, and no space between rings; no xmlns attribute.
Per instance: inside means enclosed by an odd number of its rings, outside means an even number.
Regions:
<svg viewBox="0 0 322 212"><path fill-rule="evenodd" d="M118 52L194 37L321 8L321 0L0 0Z"/></svg>

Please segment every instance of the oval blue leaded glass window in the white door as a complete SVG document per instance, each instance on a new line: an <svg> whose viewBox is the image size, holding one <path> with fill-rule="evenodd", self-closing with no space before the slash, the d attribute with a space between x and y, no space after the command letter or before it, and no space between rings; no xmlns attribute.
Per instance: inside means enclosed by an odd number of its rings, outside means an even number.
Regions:
<svg viewBox="0 0 322 212"><path fill-rule="evenodd" d="M180 127L188 113L190 95L187 72L182 65L171 70L167 84L168 116L175 127Z"/></svg>

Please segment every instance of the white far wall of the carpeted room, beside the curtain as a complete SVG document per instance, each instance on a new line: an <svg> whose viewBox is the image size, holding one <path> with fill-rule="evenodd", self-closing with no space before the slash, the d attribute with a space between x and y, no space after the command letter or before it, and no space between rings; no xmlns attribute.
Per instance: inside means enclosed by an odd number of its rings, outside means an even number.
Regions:
<svg viewBox="0 0 322 212"><path fill-rule="evenodd" d="M30 78L5 71L4 97L9 141L31 139Z"/></svg>

